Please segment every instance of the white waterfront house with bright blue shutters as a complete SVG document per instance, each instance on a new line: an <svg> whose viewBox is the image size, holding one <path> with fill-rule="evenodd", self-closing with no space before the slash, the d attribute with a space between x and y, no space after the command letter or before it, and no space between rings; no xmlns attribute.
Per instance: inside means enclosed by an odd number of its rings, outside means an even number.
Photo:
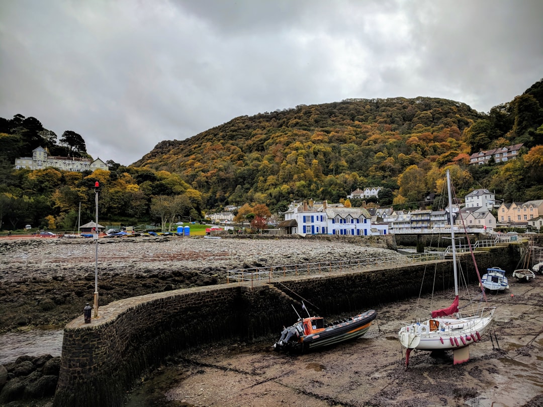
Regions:
<svg viewBox="0 0 543 407"><path fill-rule="evenodd" d="M388 234L388 224L372 225L371 215L365 208L347 208L341 204L328 205L326 201L291 203L285 220L277 225L289 234L329 234L337 236L371 236Z"/></svg>

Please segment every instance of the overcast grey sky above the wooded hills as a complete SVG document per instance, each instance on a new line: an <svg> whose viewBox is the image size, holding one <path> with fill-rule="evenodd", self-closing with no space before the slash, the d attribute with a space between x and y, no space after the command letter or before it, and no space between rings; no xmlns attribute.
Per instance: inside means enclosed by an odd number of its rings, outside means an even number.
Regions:
<svg viewBox="0 0 543 407"><path fill-rule="evenodd" d="M345 98L480 112L543 78L541 0L0 0L0 117L128 165L242 115Z"/></svg>

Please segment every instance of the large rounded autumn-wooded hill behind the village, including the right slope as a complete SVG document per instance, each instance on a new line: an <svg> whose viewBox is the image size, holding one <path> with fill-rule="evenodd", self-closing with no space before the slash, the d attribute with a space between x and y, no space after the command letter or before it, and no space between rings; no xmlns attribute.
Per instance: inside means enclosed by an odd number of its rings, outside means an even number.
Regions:
<svg viewBox="0 0 543 407"><path fill-rule="evenodd" d="M381 205L418 207L452 169L460 193L543 198L543 81L487 114L439 98L349 99L241 116L163 141L134 167L179 174L209 208L244 202L281 211L293 199L338 202L380 186ZM481 149L524 143L524 159L470 166Z"/></svg>

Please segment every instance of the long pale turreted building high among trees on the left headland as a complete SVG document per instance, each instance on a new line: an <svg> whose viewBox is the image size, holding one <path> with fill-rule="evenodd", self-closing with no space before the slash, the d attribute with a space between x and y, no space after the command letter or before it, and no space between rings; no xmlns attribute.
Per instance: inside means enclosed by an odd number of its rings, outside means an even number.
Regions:
<svg viewBox="0 0 543 407"><path fill-rule="evenodd" d="M32 150L31 157L19 157L15 160L15 169L28 168L30 170L45 169L48 167L65 171L95 171L97 169L108 170L109 166L100 158L58 157L50 156L47 150L38 147Z"/></svg>

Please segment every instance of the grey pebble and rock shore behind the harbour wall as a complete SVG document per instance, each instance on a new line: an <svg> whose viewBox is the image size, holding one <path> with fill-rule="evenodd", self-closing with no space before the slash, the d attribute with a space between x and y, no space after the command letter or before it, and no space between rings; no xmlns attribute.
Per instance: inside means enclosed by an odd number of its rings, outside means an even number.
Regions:
<svg viewBox="0 0 543 407"><path fill-rule="evenodd" d="M231 269L394 256L384 241L361 238L102 238L99 304L225 283ZM92 239L0 239L0 333L81 315L92 301L96 264Z"/></svg>

